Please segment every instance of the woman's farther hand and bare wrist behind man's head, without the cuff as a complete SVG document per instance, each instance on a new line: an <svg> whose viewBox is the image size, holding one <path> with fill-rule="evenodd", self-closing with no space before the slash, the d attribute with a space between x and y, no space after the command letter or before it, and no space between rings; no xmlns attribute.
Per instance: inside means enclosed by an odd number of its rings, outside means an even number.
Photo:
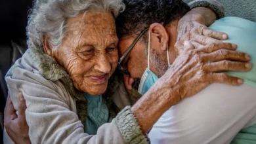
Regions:
<svg viewBox="0 0 256 144"><path fill-rule="evenodd" d="M228 39L228 35L223 32L213 31L207 26L216 20L215 13L207 8L198 7L190 10L179 20L177 31L177 43L175 46L182 52L184 41L191 41L195 48L202 48L211 43L223 43L219 40Z"/></svg>

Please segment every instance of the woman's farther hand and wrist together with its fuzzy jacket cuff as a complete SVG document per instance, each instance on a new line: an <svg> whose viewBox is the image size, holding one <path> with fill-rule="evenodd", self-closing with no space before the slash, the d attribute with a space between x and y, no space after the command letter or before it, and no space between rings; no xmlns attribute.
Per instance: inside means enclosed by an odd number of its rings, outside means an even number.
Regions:
<svg viewBox="0 0 256 144"><path fill-rule="evenodd" d="M191 10L179 20L177 31L177 46L182 51L184 41L192 41L195 48L222 43L219 40L228 39L228 35L221 31L213 31L208 26L216 19L223 18L224 7L216 0L195 0L188 3ZM201 43L197 43L200 39Z"/></svg>

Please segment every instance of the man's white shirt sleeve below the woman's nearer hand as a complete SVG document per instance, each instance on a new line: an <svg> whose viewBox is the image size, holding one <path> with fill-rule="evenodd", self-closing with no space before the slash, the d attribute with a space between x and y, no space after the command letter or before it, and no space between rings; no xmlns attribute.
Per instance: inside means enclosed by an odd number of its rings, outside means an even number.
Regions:
<svg viewBox="0 0 256 144"><path fill-rule="evenodd" d="M171 107L154 124L152 143L230 143L256 123L256 88L247 84L211 84Z"/></svg>

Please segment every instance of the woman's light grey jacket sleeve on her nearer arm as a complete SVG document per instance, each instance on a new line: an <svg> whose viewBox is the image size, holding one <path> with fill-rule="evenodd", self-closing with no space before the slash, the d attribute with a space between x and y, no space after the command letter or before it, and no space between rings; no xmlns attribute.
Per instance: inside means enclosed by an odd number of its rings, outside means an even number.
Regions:
<svg viewBox="0 0 256 144"><path fill-rule="evenodd" d="M116 119L101 126L96 135L85 134L83 124L75 110L71 109L72 103L75 105L74 101L62 83L47 81L28 63L24 62L23 58L20 61L16 62L9 71L6 81L16 110L18 110L18 93L22 92L26 99L26 120L31 143L119 144L125 143L125 139L129 139L131 135L134 136L130 139L136 140L136 137L139 137L137 143L146 141L142 133L128 134L127 137L123 137ZM8 123L5 126L8 131L10 128Z"/></svg>

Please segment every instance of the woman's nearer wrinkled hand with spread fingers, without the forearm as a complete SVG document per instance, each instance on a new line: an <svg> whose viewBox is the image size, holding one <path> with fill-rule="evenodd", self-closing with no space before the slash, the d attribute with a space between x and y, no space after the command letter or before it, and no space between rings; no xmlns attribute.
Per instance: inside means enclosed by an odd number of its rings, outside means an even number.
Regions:
<svg viewBox="0 0 256 144"><path fill-rule="evenodd" d="M220 43L194 49L194 46L186 41L183 52L171 69L161 77L160 82L169 84L175 94L173 96L178 98L177 102L197 94L213 82L240 85L243 83L242 79L223 73L251 69L251 63L247 63L250 56L244 52L236 52L236 48L237 46L231 43Z"/></svg>

